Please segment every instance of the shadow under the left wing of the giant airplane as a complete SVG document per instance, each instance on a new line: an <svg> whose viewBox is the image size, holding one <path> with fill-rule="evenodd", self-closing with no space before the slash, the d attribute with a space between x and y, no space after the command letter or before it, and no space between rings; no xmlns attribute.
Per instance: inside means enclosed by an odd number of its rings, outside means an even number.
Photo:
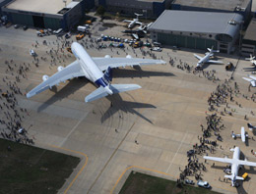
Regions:
<svg viewBox="0 0 256 194"><path fill-rule="evenodd" d="M51 96L47 101L45 101L42 105L40 105L37 109L37 112L42 112L50 105L54 104L57 101L60 101L66 97L68 97L70 94L75 93L77 90L79 90L81 87L85 86L89 81L86 77L79 77L75 79L71 79L70 81L67 80L68 83L62 87L60 90L58 90L58 86L53 86L51 91L55 94Z"/></svg>

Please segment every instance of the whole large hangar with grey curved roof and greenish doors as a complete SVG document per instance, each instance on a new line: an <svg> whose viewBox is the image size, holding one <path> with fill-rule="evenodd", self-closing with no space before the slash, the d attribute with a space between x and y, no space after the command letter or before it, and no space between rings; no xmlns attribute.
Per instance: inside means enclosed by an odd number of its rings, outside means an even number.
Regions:
<svg viewBox="0 0 256 194"><path fill-rule="evenodd" d="M153 42L223 53L234 50L242 16L234 13L165 10L149 28Z"/></svg>

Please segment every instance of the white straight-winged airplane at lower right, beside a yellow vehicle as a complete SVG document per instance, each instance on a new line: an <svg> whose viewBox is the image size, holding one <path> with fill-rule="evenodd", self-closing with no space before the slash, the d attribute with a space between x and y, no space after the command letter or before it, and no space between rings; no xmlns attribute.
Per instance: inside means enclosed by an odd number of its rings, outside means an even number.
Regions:
<svg viewBox="0 0 256 194"><path fill-rule="evenodd" d="M240 148L239 147L232 148L232 149L230 149L230 151L233 152L232 159L228 159L227 157L218 158L218 157L209 157L209 156L204 156L204 159L230 164L231 165L231 174L224 175L224 177L229 178L231 180L232 186L235 186L236 180L244 180L243 177L237 175L239 168L241 166L256 167L256 163L248 162L246 159L244 161L240 160L239 159L240 158Z"/></svg>

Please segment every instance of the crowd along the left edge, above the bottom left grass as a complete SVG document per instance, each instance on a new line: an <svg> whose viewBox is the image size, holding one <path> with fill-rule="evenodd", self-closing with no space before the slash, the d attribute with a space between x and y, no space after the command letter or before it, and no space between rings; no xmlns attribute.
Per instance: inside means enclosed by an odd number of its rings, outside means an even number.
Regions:
<svg viewBox="0 0 256 194"><path fill-rule="evenodd" d="M21 77L27 77L30 64L17 65L13 60L5 61L7 66L6 75L3 78L0 89L0 109L1 109L1 136L2 138L13 140L19 143L33 144L33 139L29 137L28 131L23 127L22 122L29 116L25 108L19 106L17 95L26 95L19 86ZM17 75L18 74L18 75ZM14 79L15 76L15 79Z"/></svg>

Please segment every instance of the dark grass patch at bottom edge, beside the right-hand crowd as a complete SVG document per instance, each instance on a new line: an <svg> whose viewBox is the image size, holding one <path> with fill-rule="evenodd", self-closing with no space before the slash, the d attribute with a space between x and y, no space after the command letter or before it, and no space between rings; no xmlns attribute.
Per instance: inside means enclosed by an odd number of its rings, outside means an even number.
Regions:
<svg viewBox="0 0 256 194"><path fill-rule="evenodd" d="M218 194L217 192L189 185L176 187L176 182L132 171L119 194Z"/></svg>

